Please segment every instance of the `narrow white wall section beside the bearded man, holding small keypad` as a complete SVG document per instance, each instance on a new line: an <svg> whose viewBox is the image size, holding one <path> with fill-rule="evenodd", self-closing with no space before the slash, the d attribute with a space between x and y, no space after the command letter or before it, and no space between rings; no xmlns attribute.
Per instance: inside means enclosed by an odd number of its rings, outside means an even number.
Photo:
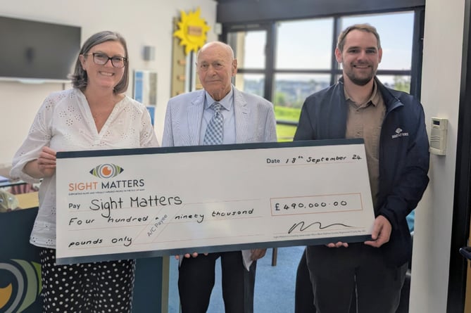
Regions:
<svg viewBox="0 0 471 313"><path fill-rule="evenodd" d="M431 155L430 183L415 213L410 312L446 312L458 132L464 0L427 0L422 103L430 117L448 118L446 156Z"/></svg>

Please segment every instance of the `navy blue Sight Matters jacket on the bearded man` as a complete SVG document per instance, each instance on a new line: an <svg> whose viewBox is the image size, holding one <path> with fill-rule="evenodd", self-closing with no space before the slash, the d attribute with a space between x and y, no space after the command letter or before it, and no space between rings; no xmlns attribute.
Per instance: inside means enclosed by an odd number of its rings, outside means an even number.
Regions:
<svg viewBox="0 0 471 313"><path fill-rule="evenodd" d="M383 215L391 223L391 238L380 249L389 264L400 266L410 260L412 252L406 216L417 206L429 182L429 142L420 102L375 80L386 106L379 137L375 216ZM306 98L294 140L345 138L347 113L340 79Z"/></svg>

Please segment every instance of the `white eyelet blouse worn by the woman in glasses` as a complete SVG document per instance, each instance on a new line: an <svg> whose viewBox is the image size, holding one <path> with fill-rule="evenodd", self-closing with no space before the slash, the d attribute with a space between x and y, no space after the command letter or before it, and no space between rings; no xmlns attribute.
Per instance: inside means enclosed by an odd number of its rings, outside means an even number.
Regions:
<svg viewBox="0 0 471 313"><path fill-rule="evenodd" d="M100 132L80 89L50 94L34 118L27 138L13 157L11 176L38 182L23 172L27 162L39 157L43 146L54 151L103 150L158 146L146 107L125 96L118 102ZM39 186L39 212L30 243L56 248L56 175Z"/></svg>

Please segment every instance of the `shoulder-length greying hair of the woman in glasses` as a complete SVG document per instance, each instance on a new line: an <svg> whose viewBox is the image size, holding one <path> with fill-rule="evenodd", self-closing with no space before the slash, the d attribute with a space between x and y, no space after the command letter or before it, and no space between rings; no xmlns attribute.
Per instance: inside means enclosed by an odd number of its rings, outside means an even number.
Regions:
<svg viewBox="0 0 471 313"><path fill-rule="evenodd" d="M82 63L80 62L80 55L86 54L92 49L92 47L96 46L97 44L103 44L106 41L118 41L120 44L123 45L125 49L125 57L127 58L127 62L125 64L125 72L123 78L118 82L118 84L113 89L115 94L121 94L127 90L127 86L129 84L129 59L127 56L127 45L126 41L123 36L118 34L117 32L110 32L108 30L103 32L97 32L93 34L87 41L84 42L82 49L80 49L79 56L77 57L77 61L75 62L75 70L72 75L70 75L70 79L72 79L73 87L78 88L80 90L84 90L87 88L88 84L88 77L87 72L82 68Z"/></svg>

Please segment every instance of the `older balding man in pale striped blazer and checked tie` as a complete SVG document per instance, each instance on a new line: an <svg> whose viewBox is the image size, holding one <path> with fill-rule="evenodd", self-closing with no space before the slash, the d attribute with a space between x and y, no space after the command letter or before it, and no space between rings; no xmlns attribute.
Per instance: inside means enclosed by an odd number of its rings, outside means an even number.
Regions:
<svg viewBox="0 0 471 313"><path fill-rule="evenodd" d="M276 141L272 103L239 91L231 84L237 72L231 47L219 41L210 42L196 58L203 89L168 101L162 146ZM178 290L182 313L203 313L208 309L218 257L225 312L253 312L255 261L265 251L193 253L180 257Z"/></svg>

